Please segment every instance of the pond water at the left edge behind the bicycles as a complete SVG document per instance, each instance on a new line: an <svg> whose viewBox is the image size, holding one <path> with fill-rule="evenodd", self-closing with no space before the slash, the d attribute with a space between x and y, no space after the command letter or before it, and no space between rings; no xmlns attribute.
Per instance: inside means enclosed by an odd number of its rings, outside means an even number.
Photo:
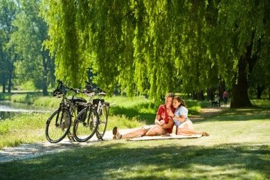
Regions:
<svg viewBox="0 0 270 180"><path fill-rule="evenodd" d="M33 105L24 105L21 103L12 103L9 101L0 101L0 120L11 118L22 113L49 112L48 109L35 107Z"/></svg>

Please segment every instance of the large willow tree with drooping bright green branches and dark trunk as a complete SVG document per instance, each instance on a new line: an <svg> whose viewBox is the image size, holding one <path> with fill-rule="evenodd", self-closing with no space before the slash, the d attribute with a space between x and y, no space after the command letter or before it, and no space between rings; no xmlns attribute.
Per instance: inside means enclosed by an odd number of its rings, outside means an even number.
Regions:
<svg viewBox="0 0 270 180"><path fill-rule="evenodd" d="M269 43L268 7L266 0L45 0L42 6L58 78L78 85L91 68L110 92L120 85L155 98L174 89L202 91L221 78L233 89L232 107L251 105L246 82L263 60L261 42Z"/></svg>

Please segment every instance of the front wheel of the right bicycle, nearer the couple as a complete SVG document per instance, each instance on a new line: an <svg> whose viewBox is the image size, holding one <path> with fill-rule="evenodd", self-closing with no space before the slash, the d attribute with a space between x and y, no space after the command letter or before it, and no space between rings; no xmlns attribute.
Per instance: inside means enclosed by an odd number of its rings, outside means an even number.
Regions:
<svg viewBox="0 0 270 180"><path fill-rule="evenodd" d="M98 112L92 108L84 108L75 119L73 136L76 141L84 142L95 134L98 127Z"/></svg>

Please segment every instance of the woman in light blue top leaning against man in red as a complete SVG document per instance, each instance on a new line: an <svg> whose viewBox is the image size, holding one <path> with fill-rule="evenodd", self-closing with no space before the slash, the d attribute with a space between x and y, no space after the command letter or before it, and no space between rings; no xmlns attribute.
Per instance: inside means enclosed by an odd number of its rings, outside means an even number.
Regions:
<svg viewBox="0 0 270 180"><path fill-rule="evenodd" d="M209 136L207 132L199 132L194 129L191 120L188 118L188 109L184 100L179 96L174 96L172 106L175 108L175 112L168 111L168 114L172 116L174 123L177 125L177 135L201 134L202 136Z"/></svg>

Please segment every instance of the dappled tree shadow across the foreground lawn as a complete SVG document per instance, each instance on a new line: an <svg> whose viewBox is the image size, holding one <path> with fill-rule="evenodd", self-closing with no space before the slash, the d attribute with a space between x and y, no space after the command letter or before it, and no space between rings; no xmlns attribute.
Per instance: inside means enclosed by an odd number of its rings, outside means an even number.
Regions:
<svg viewBox="0 0 270 180"><path fill-rule="evenodd" d="M2 163L0 179L269 178L269 145L179 146L174 141L152 147L127 141L93 145Z"/></svg>

